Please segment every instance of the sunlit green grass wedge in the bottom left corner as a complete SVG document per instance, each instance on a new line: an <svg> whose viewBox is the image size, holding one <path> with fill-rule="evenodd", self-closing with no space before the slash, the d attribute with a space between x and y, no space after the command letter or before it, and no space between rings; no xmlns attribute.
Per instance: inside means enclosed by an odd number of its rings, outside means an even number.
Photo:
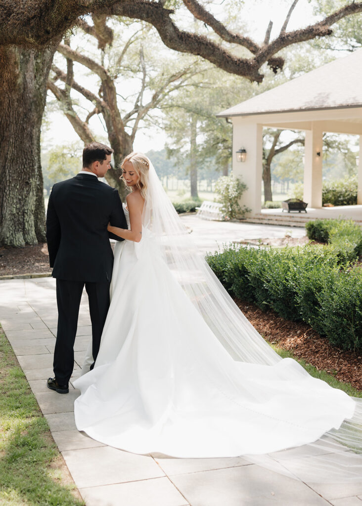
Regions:
<svg viewBox="0 0 362 506"><path fill-rule="evenodd" d="M0 326L0 505L84 506Z"/></svg>

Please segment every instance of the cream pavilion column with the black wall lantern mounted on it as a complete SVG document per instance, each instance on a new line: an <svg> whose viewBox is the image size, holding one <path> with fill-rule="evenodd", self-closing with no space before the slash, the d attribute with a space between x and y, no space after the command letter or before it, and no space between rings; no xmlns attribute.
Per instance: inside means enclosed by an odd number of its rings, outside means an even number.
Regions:
<svg viewBox="0 0 362 506"><path fill-rule="evenodd" d="M232 142L232 172L234 176L247 185L243 193L241 205L251 209L250 215L261 212L261 181L263 173L263 128L257 123L246 123L243 119L234 117ZM236 160L236 151L245 148L246 161Z"/></svg>

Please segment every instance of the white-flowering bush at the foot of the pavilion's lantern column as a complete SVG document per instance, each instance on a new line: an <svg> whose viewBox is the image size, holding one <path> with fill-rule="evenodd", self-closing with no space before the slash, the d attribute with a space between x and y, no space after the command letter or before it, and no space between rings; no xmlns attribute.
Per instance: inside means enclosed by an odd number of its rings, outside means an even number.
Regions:
<svg viewBox="0 0 362 506"><path fill-rule="evenodd" d="M215 192L219 194L216 202L222 204L221 212L224 220L232 220L233 218L244 218L250 209L245 205L240 206L239 200L243 195L247 185L239 178L231 176L222 176L215 185Z"/></svg>

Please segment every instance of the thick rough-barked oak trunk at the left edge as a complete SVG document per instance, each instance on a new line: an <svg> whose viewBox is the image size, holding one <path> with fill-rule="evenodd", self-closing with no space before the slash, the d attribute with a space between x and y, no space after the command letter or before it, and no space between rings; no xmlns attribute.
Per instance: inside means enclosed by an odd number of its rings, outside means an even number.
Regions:
<svg viewBox="0 0 362 506"><path fill-rule="evenodd" d="M45 241L40 135L57 45L0 47L0 245Z"/></svg>

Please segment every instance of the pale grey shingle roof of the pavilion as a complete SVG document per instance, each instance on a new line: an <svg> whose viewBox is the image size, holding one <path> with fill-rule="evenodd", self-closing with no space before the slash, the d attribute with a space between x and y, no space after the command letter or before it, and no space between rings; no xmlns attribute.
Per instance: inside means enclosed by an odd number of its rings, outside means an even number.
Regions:
<svg viewBox="0 0 362 506"><path fill-rule="evenodd" d="M218 116L358 106L362 106L361 49L230 107Z"/></svg>

